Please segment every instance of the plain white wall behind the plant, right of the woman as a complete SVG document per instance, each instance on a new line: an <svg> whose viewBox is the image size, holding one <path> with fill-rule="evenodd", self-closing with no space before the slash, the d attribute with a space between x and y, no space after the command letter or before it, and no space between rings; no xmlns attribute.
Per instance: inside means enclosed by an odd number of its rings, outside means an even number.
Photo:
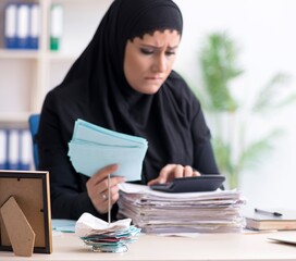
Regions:
<svg viewBox="0 0 296 261"><path fill-rule="evenodd" d="M236 83L237 95L256 92L272 75L292 76L285 88L296 91L295 0L175 0L184 15L184 35L175 69L190 85L201 85L198 51L206 35L227 32L240 49L245 70ZM243 173L239 189L250 206L296 208L296 105L284 113L257 120L250 129L259 137L263 129L279 126L284 136L260 166ZM214 134L214 129L212 129Z"/></svg>

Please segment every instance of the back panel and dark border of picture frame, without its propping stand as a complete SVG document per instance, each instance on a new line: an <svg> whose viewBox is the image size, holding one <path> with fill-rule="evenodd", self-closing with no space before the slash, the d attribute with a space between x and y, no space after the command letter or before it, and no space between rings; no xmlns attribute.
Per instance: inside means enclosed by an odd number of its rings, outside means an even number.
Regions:
<svg viewBox="0 0 296 261"><path fill-rule="evenodd" d="M35 233L33 251L51 253L49 173L42 171L0 171L0 208L10 198L15 199ZM0 213L0 251L12 250L14 249Z"/></svg>

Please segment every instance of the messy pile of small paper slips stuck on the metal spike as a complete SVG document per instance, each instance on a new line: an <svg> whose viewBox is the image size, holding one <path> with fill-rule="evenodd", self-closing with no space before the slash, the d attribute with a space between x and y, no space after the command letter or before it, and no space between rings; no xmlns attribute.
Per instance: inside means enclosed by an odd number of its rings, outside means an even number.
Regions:
<svg viewBox="0 0 296 261"><path fill-rule="evenodd" d="M140 229L131 226L131 219L107 223L96 216L84 213L76 223L75 233L94 251L125 252L127 244L137 239Z"/></svg>

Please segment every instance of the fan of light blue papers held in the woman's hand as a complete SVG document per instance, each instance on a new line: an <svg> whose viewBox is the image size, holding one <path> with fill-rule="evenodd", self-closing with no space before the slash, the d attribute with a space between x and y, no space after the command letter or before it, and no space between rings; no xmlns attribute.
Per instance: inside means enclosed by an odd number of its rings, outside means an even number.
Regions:
<svg viewBox="0 0 296 261"><path fill-rule="evenodd" d="M147 148L144 138L77 120L69 144L69 157L74 169L87 176L107 165L119 164L119 170L112 175L124 176L126 181L139 181Z"/></svg>

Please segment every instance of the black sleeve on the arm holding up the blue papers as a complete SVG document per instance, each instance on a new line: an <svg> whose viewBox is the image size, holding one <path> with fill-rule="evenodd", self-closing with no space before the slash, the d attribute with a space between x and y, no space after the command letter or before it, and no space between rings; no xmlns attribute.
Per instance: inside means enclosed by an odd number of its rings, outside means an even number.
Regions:
<svg viewBox="0 0 296 261"><path fill-rule="evenodd" d="M46 99L37 135L39 170L49 171L50 175L51 215L77 220L89 212L107 220L108 214L99 214L87 195L88 177L76 173L70 162L67 142L73 126L66 126L67 121L58 111L52 99Z"/></svg>

